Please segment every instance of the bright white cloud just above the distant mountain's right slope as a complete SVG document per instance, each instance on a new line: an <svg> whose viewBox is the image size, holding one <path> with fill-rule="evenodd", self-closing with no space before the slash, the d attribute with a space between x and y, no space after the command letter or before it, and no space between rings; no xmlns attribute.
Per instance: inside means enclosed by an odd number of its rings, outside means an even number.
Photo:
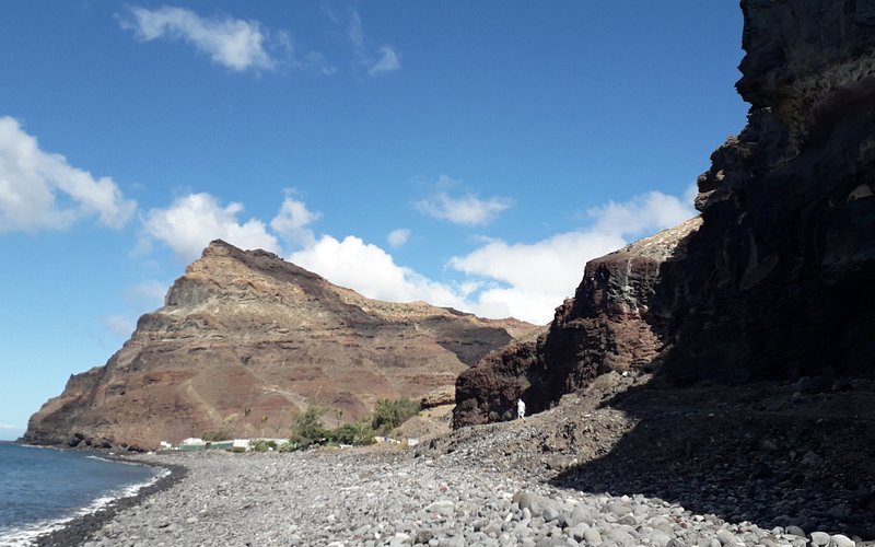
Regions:
<svg viewBox="0 0 875 547"><path fill-rule="evenodd" d="M392 255L352 235L343 241L323 235L312 247L292 253L289 259L371 299L423 300L434 305L466 307L464 299L450 286L398 266Z"/></svg>

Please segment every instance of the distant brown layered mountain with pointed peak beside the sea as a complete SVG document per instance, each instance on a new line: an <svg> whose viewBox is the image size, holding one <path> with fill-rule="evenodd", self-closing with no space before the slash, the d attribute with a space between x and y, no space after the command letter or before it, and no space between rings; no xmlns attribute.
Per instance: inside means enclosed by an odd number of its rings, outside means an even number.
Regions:
<svg viewBox="0 0 875 547"><path fill-rule="evenodd" d="M369 300L217 241L105 366L71 376L31 418L24 440L148 449L206 431L287 435L292 412L310 405L349 421L378 398L452 387L532 328Z"/></svg>

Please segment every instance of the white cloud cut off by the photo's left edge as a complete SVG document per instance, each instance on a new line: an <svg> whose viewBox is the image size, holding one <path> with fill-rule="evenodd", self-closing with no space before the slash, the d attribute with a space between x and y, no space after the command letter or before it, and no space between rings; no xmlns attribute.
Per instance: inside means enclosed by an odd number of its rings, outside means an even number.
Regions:
<svg viewBox="0 0 875 547"><path fill-rule="evenodd" d="M40 150L18 120L0 117L0 233L63 230L86 217L117 229L136 208L112 178L94 178Z"/></svg>

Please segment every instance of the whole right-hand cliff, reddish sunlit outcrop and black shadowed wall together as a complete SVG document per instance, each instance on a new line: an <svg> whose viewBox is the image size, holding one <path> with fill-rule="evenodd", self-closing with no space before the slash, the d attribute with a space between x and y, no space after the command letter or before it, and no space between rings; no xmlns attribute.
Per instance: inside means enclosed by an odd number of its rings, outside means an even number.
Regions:
<svg viewBox="0 0 875 547"><path fill-rule="evenodd" d="M875 372L875 3L740 5L748 124L699 177L700 225L591 261L547 333L459 376L455 426L608 370L827 387Z"/></svg>

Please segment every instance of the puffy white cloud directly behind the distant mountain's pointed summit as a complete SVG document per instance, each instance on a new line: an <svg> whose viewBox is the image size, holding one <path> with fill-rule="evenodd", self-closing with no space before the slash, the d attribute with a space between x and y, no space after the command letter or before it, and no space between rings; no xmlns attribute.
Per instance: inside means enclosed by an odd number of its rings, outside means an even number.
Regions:
<svg viewBox="0 0 875 547"><path fill-rule="evenodd" d="M241 223L241 203L222 207L209 194L189 194L176 199L166 209L151 209L143 219L144 234L163 242L183 260L200 256L203 248L215 238L242 248L264 248L280 252L277 236L268 233L258 219Z"/></svg>

